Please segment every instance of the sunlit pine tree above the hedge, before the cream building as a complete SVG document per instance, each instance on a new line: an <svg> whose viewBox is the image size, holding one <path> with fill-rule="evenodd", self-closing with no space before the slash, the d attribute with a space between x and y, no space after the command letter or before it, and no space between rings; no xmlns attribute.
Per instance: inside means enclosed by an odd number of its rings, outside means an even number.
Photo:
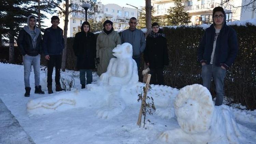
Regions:
<svg viewBox="0 0 256 144"><path fill-rule="evenodd" d="M175 7L170 7L168 9L168 15L165 15L167 25L179 26L187 25L190 23L190 16L188 12L184 10L184 5L182 5L182 0L174 0Z"/></svg>

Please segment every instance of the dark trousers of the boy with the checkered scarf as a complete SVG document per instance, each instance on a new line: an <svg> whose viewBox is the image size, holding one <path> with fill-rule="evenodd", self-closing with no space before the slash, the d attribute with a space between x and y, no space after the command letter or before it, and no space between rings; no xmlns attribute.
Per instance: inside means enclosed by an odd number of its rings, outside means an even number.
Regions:
<svg viewBox="0 0 256 144"><path fill-rule="evenodd" d="M150 69L150 74L151 74L151 80L150 84L154 85L164 85L163 83L163 69Z"/></svg>

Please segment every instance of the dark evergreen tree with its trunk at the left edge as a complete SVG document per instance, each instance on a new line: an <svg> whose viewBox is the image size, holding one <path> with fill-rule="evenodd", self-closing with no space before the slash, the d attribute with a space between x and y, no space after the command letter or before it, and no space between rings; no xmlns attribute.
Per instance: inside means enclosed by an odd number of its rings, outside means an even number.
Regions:
<svg viewBox="0 0 256 144"><path fill-rule="evenodd" d="M0 1L0 33L5 42L9 41L9 62L14 63L14 41L22 25L27 24L27 17L36 12L27 8L28 0Z"/></svg>

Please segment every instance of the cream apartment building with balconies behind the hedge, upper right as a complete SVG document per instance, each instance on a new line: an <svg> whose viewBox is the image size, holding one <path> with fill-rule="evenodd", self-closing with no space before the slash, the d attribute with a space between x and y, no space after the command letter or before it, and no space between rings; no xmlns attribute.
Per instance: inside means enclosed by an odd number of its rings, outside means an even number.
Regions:
<svg viewBox="0 0 256 144"><path fill-rule="evenodd" d="M167 10L174 7L173 0L152 0L151 1L155 13L154 16L163 16L168 14ZM211 24L212 23L212 10L216 6L222 6L226 12L226 21L234 20L248 20L256 18L256 11L241 8L239 6L245 5L248 0L230 0L229 3L224 3L223 0L184 0L183 5L185 11L191 17L190 25L198 24ZM255 5L255 4L254 4ZM234 8L238 7L238 8Z"/></svg>

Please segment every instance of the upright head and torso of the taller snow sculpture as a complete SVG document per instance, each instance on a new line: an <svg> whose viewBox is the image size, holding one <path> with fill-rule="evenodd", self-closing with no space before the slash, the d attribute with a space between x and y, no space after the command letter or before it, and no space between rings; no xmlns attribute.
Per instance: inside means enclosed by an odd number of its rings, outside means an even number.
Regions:
<svg viewBox="0 0 256 144"><path fill-rule="evenodd" d="M108 85L130 85L139 81L137 64L132 59L132 45L123 43L113 49L108 69L101 74L100 81Z"/></svg>

